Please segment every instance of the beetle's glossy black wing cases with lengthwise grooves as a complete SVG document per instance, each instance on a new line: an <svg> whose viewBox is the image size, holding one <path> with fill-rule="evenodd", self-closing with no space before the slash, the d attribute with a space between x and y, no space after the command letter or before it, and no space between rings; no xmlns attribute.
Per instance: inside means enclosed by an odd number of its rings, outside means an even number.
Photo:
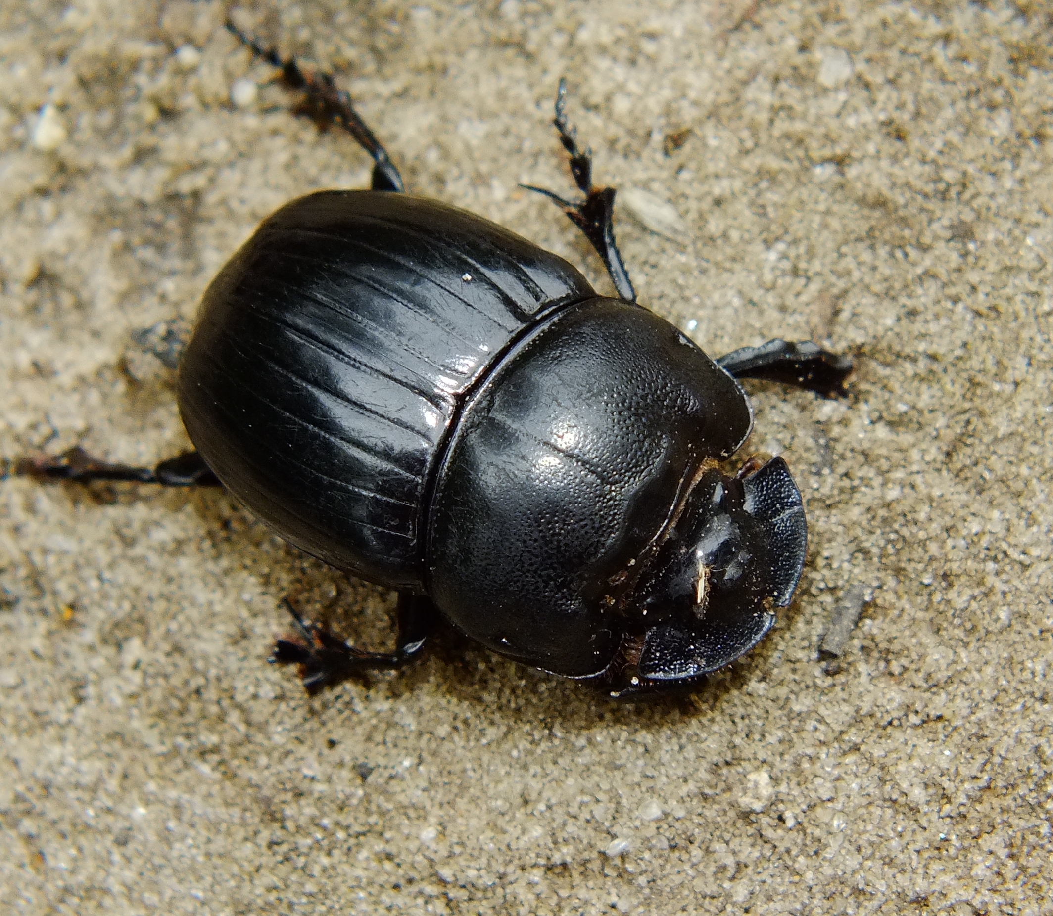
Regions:
<svg viewBox="0 0 1053 916"><path fill-rule="evenodd" d="M468 393L538 320L590 296L561 258L456 207L313 194L206 291L179 371L183 422L285 540L423 592L430 486Z"/></svg>

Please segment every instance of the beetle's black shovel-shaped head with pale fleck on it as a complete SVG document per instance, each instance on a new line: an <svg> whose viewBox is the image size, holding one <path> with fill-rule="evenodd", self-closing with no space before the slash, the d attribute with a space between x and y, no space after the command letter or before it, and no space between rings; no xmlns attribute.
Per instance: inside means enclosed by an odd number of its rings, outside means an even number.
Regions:
<svg viewBox="0 0 1053 916"><path fill-rule="evenodd" d="M635 589L643 639L632 684L722 668L756 645L773 609L793 598L808 541L800 493L781 458L758 465L734 477L703 470L665 532Z"/></svg>

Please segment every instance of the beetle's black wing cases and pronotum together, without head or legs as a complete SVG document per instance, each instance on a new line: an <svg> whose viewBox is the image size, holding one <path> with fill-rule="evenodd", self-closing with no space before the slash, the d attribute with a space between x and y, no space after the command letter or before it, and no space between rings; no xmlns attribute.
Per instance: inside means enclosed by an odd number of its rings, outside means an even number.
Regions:
<svg viewBox="0 0 1053 916"><path fill-rule="evenodd" d="M619 576L752 424L727 372L561 258L355 191L294 201L224 267L179 402L284 539L577 677L618 649Z"/></svg>

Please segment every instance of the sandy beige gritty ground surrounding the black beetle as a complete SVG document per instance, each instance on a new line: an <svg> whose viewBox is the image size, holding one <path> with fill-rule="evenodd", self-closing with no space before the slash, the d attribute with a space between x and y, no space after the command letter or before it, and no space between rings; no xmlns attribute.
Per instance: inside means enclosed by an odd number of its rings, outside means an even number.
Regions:
<svg viewBox="0 0 1053 916"><path fill-rule="evenodd" d="M236 9L340 74L412 190L603 282L517 190L571 190L565 75L599 180L686 224L619 211L641 300L714 353L814 336L859 371L843 403L751 385L752 446L806 494L802 585L760 649L650 704L452 634L309 700L264 661L279 599L382 644L391 596L218 492L0 481L4 909L1053 913L1049 9ZM192 320L280 203L366 183L223 15L2 5L0 455L184 447L161 333L137 332Z"/></svg>

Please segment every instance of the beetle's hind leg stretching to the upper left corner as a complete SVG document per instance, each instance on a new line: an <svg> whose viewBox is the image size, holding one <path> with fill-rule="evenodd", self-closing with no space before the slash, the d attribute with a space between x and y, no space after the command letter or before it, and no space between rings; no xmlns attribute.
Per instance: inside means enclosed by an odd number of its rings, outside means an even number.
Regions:
<svg viewBox="0 0 1053 916"><path fill-rule="evenodd" d="M293 108L293 113L310 118L318 130L325 131L334 124L351 134L370 156L373 157L373 191L404 191L402 176L392 162L388 151L381 145L376 135L359 117L351 101L351 96L338 88L332 75L304 71L296 62L296 58L282 58L275 47L264 47L251 35L242 32L230 19L226 20L226 31L238 39L260 60L276 66L281 71L282 84L296 92L303 93L303 100Z"/></svg>

